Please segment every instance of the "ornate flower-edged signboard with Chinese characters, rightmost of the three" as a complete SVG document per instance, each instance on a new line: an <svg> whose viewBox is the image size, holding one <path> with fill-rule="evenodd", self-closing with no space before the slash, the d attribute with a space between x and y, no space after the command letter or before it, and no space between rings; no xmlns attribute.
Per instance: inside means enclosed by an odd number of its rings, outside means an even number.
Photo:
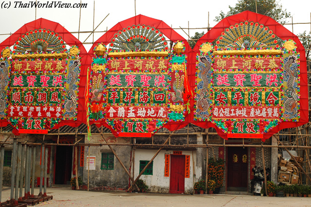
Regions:
<svg viewBox="0 0 311 207"><path fill-rule="evenodd" d="M300 118L300 54L263 24L226 28L203 43L196 63L194 120L211 121L227 138L263 138Z"/></svg>

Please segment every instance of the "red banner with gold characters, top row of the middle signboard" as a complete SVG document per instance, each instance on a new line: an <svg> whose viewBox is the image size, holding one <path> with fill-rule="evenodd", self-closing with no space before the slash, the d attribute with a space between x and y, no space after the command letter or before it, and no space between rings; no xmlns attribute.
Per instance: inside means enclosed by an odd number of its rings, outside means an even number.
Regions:
<svg viewBox="0 0 311 207"><path fill-rule="evenodd" d="M108 68L110 71L166 71L169 68L169 60L168 59L154 59L151 57L150 59L113 59L108 61Z"/></svg>

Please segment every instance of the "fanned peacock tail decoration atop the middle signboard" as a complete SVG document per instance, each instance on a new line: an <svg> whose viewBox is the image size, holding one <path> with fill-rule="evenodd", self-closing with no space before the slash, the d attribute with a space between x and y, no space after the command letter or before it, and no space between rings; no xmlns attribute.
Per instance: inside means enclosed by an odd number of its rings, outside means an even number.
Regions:
<svg viewBox="0 0 311 207"><path fill-rule="evenodd" d="M164 35L155 27L133 25L119 30L109 44L109 51L168 50Z"/></svg>

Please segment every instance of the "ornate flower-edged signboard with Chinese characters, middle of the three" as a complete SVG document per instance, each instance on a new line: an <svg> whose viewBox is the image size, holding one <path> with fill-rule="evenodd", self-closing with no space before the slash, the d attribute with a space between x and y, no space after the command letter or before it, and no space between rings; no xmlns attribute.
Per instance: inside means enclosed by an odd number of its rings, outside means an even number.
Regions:
<svg viewBox="0 0 311 207"><path fill-rule="evenodd" d="M89 120L118 136L151 137L169 121L183 121L187 56L170 52L155 27L132 25L98 44L89 86ZM138 135L141 134L142 135Z"/></svg>

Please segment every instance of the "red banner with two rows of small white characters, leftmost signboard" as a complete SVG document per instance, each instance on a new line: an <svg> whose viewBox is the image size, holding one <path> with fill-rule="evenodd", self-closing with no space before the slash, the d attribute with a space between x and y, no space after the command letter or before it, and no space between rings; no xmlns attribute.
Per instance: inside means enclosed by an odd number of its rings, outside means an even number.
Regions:
<svg viewBox="0 0 311 207"><path fill-rule="evenodd" d="M9 106L8 117L38 117L38 118L60 118L62 108L60 106Z"/></svg>

